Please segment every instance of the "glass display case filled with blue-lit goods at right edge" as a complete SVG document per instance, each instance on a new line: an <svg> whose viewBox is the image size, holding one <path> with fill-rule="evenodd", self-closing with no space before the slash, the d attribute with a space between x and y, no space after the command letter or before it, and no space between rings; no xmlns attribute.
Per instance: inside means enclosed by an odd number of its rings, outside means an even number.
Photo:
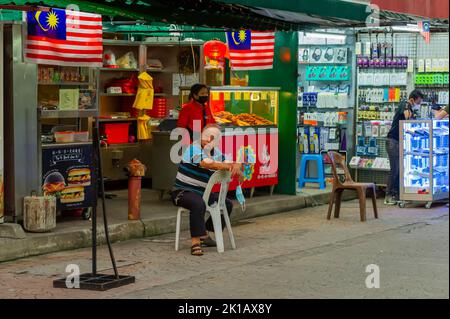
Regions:
<svg viewBox="0 0 450 319"><path fill-rule="evenodd" d="M449 121L400 122L400 206L449 196Z"/></svg>

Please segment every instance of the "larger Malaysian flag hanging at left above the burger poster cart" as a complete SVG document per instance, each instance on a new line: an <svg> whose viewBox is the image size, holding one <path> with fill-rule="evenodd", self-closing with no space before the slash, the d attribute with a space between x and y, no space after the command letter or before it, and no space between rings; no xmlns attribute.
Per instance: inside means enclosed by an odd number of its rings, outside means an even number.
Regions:
<svg viewBox="0 0 450 319"><path fill-rule="evenodd" d="M63 66L103 66L102 17L72 10L27 12L25 58Z"/></svg>

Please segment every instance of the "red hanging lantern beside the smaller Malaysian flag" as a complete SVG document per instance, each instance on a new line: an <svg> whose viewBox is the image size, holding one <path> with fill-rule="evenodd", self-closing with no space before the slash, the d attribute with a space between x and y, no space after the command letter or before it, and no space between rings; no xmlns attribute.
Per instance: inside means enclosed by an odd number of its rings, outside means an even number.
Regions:
<svg viewBox="0 0 450 319"><path fill-rule="evenodd" d="M211 40L203 45L205 56L206 85L222 86L225 83L225 58L228 47L218 40Z"/></svg>

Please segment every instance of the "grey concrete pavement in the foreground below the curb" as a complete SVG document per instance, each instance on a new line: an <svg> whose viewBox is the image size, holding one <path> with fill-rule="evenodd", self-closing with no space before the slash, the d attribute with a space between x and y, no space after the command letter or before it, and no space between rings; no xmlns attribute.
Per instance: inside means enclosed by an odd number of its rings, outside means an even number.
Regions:
<svg viewBox="0 0 450 319"><path fill-rule="evenodd" d="M79 249L0 264L1 298L449 298L448 208L380 205L359 222L358 203L343 203L339 220L326 206L238 221L237 250L189 255L188 233L175 252L174 235L114 245L121 274L133 285L107 292L54 289L69 263L89 271L90 250ZM99 252L99 268L111 272ZM368 265L380 288L366 287Z"/></svg>

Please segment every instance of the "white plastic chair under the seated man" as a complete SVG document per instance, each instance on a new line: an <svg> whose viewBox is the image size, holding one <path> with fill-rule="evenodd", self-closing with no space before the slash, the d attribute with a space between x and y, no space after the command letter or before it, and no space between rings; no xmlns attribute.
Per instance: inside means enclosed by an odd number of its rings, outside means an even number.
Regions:
<svg viewBox="0 0 450 319"><path fill-rule="evenodd" d="M208 185L206 186L205 193L203 195L203 201L206 205L206 212L211 215L211 219L214 227L214 235L216 237L217 252L223 253L225 251L223 243L223 233L222 233L222 219L223 215L225 220L225 225L228 230L228 235L231 241L231 247L236 249L236 243L234 241L233 231L231 229L230 216L228 215L227 206L225 204L228 186L231 182L231 172L228 171L217 171L209 179ZM212 189L216 184L221 184L218 202L209 205L209 197L211 195ZM189 214L189 210L180 207L177 213L177 224L176 224L176 234L175 234L175 250L178 251L180 247L180 232L181 232L181 215L183 213Z"/></svg>

